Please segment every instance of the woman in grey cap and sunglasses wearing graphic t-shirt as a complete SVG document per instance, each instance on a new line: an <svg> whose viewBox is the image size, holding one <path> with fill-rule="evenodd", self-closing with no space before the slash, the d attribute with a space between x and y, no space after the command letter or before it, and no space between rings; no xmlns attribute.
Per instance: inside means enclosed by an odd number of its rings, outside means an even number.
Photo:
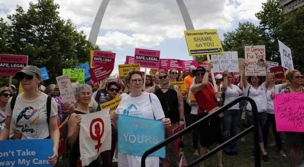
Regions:
<svg viewBox="0 0 304 167"><path fill-rule="evenodd" d="M7 139L53 139L53 156L48 157L51 164L58 158L59 130L57 126L57 104L54 98L51 101L51 113L47 122L48 95L39 91L42 74L36 66L25 66L15 76L20 81L23 93L17 96L13 110L11 100L6 107L7 123L0 134L0 140ZM26 113L22 112L28 109ZM33 111L35 111L33 113ZM18 119L18 122L17 122ZM29 123L30 121L30 123ZM25 128L24 127L30 127ZM23 127L23 128L21 128Z"/></svg>

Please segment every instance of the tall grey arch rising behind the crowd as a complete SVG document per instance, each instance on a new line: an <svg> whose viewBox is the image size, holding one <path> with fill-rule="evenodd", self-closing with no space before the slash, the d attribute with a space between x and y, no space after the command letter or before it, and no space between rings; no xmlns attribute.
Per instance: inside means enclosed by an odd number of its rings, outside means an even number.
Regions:
<svg viewBox="0 0 304 167"><path fill-rule="evenodd" d="M89 41L93 45L96 45L97 36L98 36L98 33L99 33L102 18L104 16L104 13L105 13L105 10L106 10L106 7L107 7L109 1L110 0L103 0L102 1L101 5L100 5L100 7L97 11L96 17L94 19L94 22L93 22L93 25L92 25L92 28L91 28L91 32L90 32L90 35L89 35ZM190 18L190 15L188 13L188 10L187 10L184 2L182 0L176 0L176 3L179 7L181 16L182 16L183 21L185 23L186 30L194 30L192 20ZM193 56L193 59L195 60L195 56Z"/></svg>

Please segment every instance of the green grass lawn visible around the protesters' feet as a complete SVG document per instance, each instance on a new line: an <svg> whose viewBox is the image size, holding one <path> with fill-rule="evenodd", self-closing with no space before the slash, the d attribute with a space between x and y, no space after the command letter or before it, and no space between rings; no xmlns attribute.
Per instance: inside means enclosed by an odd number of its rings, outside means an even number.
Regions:
<svg viewBox="0 0 304 167"><path fill-rule="evenodd" d="M281 134L282 140L286 141L286 136L284 133ZM245 136L246 142L238 141L238 155L237 156L229 156L223 153L223 166L228 167L228 166L254 166L254 158L250 157L251 155L251 150L253 148L253 136L252 134L248 134ZM185 157L187 162L192 162L193 160L196 159L196 157L193 155L194 150L192 146L192 135L187 134L185 137ZM212 148L210 148L211 150ZM269 164L265 164L261 162L262 166L293 166L291 162L291 157L290 157L290 147L286 144L283 143L283 149L287 155L287 157L282 157L279 154L279 151L277 147L273 148L268 148L268 155L270 159ZM171 149L172 150L172 149ZM171 157L173 157L173 151L171 151ZM172 158L173 159L173 158ZM172 166L175 166L174 162L171 159L171 164ZM301 155L301 162L303 163L303 155ZM64 158L62 162L58 162L56 166L68 166L68 159ZM113 162L113 166L117 166L117 162ZM197 165L199 166L199 165ZM205 166L217 166L217 159L216 155L213 155L212 157L208 158L205 161ZM134 166L136 167L136 166Z"/></svg>

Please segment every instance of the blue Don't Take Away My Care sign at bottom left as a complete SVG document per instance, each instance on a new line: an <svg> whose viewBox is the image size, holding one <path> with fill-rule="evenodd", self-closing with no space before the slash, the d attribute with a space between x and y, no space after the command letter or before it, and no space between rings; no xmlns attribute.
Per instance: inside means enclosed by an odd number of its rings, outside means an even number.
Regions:
<svg viewBox="0 0 304 167"><path fill-rule="evenodd" d="M0 166L53 166L53 139L1 140Z"/></svg>

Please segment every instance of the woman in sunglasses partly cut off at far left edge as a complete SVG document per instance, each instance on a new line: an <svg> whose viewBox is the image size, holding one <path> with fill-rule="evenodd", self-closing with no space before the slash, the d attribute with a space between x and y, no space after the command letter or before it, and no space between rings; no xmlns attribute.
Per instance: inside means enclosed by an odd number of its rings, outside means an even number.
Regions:
<svg viewBox="0 0 304 167"><path fill-rule="evenodd" d="M13 90L9 87L0 88L0 133L5 127L6 115L5 109L7 107L10 97L13 97Z"/></svg>

